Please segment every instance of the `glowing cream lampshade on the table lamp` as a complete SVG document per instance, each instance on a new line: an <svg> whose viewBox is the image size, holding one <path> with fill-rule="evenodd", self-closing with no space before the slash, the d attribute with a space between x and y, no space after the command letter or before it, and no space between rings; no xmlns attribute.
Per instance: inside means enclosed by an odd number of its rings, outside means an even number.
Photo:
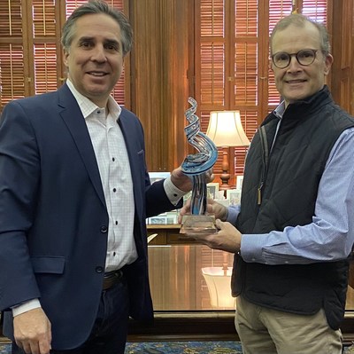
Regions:
<svg viewBox="0 0 354 354"><path fill-rule="evenodd" d="M240 111L212 111L206 135L216 146L249 146Z"/></svg>

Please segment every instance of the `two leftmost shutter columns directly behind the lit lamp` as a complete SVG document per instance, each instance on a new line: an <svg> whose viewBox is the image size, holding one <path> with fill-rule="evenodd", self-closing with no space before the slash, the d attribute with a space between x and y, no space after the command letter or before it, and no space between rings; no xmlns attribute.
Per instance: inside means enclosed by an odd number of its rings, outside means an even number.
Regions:
<svg viewBox="0 0 354 354"><path fill-rule="evenodd" d="M200 0L196 35L196 100L202 131L212 110L239 109L251 138L257 128L258 1ZM196 28L198 31L198 28ZM245 148L230 148L229 165L242 174ZM221 173L222 151L214 166Z"/></svg>

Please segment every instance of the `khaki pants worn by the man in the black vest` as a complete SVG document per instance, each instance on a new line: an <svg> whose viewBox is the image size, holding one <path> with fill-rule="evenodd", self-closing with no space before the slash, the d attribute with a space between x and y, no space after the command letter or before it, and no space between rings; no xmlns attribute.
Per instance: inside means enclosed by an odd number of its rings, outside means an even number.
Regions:
<svg viewBox="0 0 354 354"><path fill-rule="evenodd" d="M266 309L237 297L235 327L243 354L341 354L342 333L325 311L305 316Z"/></svg>

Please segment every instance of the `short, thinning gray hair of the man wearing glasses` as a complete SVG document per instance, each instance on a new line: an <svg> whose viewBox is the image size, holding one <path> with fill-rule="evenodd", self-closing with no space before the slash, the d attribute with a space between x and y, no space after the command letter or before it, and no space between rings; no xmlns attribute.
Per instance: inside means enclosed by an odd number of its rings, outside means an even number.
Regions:
<svg viewBox="0 0 354 354"><path fill-rule="evenodd" d="M331 51L331 44L329 43L327 28L325 28L325 26L323 26L321 23L312 20L300 13L293 13L287 17L284 17L275 25L270 37L271 53L272 53L273 37L277 31L281 31L285 28L288 28L290 25L294 25L298 28L304 28L307 22L312 23L312 25L319 30L320 49L323 52L323 54L327 57L327 55Z"/></svg>

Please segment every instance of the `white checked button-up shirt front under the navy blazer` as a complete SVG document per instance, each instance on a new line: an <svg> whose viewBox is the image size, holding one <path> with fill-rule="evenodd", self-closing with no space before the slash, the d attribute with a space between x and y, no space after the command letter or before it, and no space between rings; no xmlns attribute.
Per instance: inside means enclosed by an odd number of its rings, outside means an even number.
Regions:
<svg viewBox="0 0 354 354"><path fill-rule="evenodd" d="M107 112L107 108L97 107L82 96L69 80L67 85L81 108L96 154L109 216L105 271L114 271L137 258L133 180L127 146L117 123L121 108L110 96Z"/></svg>

